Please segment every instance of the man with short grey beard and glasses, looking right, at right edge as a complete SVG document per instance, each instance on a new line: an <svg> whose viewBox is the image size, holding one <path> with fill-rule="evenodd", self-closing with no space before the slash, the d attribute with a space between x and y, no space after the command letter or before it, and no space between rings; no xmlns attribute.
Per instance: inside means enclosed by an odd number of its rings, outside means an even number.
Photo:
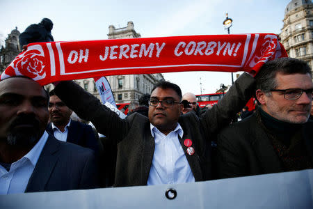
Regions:
<svg viewBox="0 0 313 209"><path fill-rule="evenodd" d="M269 61L256 78L256 113L218 136L219 178L312 169L312 70L305 61Z"/></svg>

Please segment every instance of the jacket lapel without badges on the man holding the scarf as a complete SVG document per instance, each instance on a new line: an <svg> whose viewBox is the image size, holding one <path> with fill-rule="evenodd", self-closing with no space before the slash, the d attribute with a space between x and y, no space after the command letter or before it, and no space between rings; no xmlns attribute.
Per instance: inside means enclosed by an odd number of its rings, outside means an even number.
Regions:
<svg viewBox="0 0 313 209"><path fill-rule="evenodd" d="M149 178L150 168L152 166L152 159L154 155L155 142L151 135L150 123L147 123L144 128L145 133L143 136L143 155L141 158L141 184L147 185ZM148 127L147 127L148 126Z"/></svg>

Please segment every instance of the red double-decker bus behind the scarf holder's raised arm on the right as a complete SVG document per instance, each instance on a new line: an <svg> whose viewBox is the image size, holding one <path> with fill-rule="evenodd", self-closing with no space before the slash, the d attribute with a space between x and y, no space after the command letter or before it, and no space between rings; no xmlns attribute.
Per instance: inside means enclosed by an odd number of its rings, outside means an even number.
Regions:
<svg viewBox="0 0 313 209"><path fill-rule="evenodd" d="M223 98L225 93L208 93L208 94L200 94L195 95L195 98L197 98L197 102L199 107L205 107L207 104L210 104L213 106L216 104L221 98ZM252 111L255 109L255 98L251 98L246 106L249 108L249 111Z"/></svg>

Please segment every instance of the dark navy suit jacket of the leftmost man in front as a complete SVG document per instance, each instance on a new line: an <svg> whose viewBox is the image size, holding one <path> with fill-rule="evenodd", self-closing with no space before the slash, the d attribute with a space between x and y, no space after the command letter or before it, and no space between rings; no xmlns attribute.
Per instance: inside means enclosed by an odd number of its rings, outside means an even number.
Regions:
<svg viewBox="0 0 313 209"><path fill-rule="evenodd" d="M58 141L49 135L25 192L93 189L98 185L93 150Z"/></svg>

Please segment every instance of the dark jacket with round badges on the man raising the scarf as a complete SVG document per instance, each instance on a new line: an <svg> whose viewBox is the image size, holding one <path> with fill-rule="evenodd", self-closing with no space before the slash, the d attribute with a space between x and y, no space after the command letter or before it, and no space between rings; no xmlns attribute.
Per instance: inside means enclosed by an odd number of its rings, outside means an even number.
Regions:
<svg viewBox="0 0 313 209"><path fill-rule="evenodd" d="M193 112L179 117L179 124L184 130L184 136L179 141L185 153L184 139L193 141L195 154L186 154L186 158L196 181L211 178L207 141L211 144L211 134L229 124L230 118L246 104L252 95L253 84L254 79L243 74L229 93L202 117L199 118ZM154 138L150 132L149 119L134 113L122 120L74 82L61 82L54 91L67 107L79 117L92 121L98 132L117 144L115 186L147 185L154 154Z"/></svg>

